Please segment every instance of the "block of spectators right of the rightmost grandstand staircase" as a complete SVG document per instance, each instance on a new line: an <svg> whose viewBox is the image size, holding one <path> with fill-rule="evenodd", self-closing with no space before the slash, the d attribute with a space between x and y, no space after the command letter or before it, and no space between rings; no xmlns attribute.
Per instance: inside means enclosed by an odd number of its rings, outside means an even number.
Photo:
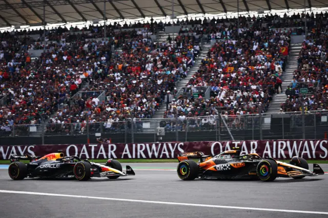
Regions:
<svg viewBox="0 0 328 218"><path fill-rule="evenodd" d="M297 70L285 91L286 101L281 104L282 112L328 110L327 42L327 26L311 31L303 41ZM301 94L301 89L308 94Z"/></svg>

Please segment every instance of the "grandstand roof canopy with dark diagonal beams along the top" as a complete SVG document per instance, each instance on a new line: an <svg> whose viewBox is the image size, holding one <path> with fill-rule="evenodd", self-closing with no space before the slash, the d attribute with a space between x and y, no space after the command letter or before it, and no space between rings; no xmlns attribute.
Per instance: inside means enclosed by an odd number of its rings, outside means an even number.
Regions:
<svg viewBox="0 0 328 218"><path fill-rule="evenodd" d="M237 11L237 0L2 0L0 27L42 25L45 6L47 24L107 19L219 14ZM306 7L328 7L327 0L306 0ZM239 0L239 11L304 8L304 0Z"/></svg>

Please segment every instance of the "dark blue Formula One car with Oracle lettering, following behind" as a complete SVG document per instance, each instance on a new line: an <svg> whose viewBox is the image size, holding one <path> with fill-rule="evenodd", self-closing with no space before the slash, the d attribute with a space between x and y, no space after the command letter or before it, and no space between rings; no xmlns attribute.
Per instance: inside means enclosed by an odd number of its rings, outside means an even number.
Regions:
<svg viewBox="0 0 328 218"><path fill-rule="evenodd" d="M29 160L28 164L19 160ZM77 156L64 157L63 153L52 153L44 157L36 156L11 156L8 173L13 180L24 178L49 178L66 179L76 178L79 181L87 181L91 177L118 177L134 176L130 166L126 167L126 173L122 172L122 166L117 160L109 159L106 165L81 160Z"/></svg>

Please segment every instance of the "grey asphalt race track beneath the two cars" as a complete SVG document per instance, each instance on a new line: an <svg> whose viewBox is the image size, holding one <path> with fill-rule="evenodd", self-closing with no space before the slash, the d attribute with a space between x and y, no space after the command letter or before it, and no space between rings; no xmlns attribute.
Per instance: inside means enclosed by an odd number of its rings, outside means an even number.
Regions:
<svg viewBox="0 0 328 218"><path fill-rule="evenodd" d="M6 169L0 169L0 214L2 217L328 217L327 173L301 180L278 178L270 183L182 181L173 170L176 163L130 165L135 169L134 177L87 182L13 181ZM320 166L328 172L328 164Z"/></svg>

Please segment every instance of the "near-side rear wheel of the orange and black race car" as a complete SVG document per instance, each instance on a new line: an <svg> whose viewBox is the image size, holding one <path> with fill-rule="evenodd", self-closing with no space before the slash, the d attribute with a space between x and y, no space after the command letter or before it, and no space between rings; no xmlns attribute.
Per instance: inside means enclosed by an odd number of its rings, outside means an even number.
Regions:
<svg viewBox="0 0 328 218"><path fill-rule="evenodd" d="M176 169L181 180L194 180L198 177L198 164L193 160L181 161Z"/></svg>

